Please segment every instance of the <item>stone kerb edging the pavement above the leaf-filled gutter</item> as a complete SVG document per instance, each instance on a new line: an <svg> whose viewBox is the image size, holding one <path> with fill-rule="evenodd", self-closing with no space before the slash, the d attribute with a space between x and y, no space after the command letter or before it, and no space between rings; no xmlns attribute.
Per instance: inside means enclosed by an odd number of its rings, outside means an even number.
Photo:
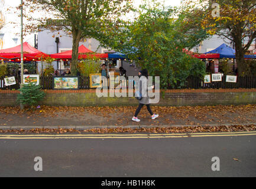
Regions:
<svg viewBox="0 0 256 189"><path fill-rule="evenodd" d="M89 130L89 129L116 129L116 128L124 128L124 129L141 129L141 128L170 128L170 127L196 127L196 126L248 126L248 125L256 125L256 123L239 123L239 124L204 124L204 125L127 125L127 126L0 126L0 130L31 130L31 129L74 129L78 131Z"/></svg>

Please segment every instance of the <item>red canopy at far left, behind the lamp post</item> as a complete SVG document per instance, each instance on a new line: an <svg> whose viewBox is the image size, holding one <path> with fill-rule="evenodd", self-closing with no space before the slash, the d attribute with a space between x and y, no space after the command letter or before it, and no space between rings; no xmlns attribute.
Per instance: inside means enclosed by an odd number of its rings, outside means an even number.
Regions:
<svg viewBox="0 0 256 189"><path fill-rule="evenodd" d="M38 51L27 42L23 43L23 53L24 61L38 61L41 57L49 57L48 54ZM2 60L20 61L20 58L21 45L0 50L0 59Z"/></svg>

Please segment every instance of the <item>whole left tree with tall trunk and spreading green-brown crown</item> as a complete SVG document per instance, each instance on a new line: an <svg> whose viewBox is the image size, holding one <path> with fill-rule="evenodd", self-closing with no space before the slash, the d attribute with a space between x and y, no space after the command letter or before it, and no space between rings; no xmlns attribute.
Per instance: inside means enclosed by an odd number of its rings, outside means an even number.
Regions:
<svg viewBox="0 0 256 189"><path fill-rule="evenodd" d="M111 41L104 32L118 31L119 20L131 10L133 0L27 0L25 5L31 12L45 15L41 19L30 17L27 30L66 31L72 35L71 74L76 75L79 42L95 38L101 43ZM28 14L30 16L30 14ZM35 24L33 21L37 21ZM55 37L55 36L53 36Z"/></svg>

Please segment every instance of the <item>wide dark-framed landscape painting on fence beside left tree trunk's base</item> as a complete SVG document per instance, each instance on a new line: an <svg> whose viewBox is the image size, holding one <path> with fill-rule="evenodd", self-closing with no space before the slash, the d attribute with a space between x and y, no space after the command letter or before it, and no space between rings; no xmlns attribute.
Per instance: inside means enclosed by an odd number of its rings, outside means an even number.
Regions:
<svg viewBox="0 0 256 189"><path fill-rule="evenodd" d="M53 90L78 90L79 76L53 77Z"/></svg>

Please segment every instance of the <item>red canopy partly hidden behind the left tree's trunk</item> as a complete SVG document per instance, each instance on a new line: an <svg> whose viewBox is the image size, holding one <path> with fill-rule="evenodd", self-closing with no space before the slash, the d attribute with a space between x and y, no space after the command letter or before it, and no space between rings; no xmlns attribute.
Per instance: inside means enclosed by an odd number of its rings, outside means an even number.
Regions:
<svg viewBox="0 0 256 189"><path fill-rule="evenodd" d="M86 59L88 57L93 58L108 58L108 54L94 53L93 51L81 45L78 48L79 59ZM72 59L72 50L64 51L63 53L51 54L52 58L56 59Z"/></svg>

